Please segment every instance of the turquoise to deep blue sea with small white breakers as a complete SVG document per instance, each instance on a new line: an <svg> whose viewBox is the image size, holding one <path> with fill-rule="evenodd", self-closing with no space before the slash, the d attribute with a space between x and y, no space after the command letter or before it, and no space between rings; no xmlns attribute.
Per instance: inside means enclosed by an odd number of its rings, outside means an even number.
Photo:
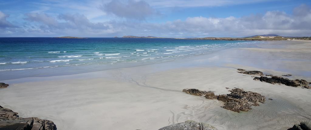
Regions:
<svg viewBox="0 0 311 130"><path fill-rule="evenodd" d="M105 67L116 68L118 64L163 62L258 42L148 38L0 38L0 72L14 71L14 74L21 70L51 71L53 68L87 65L97 65L104 70Z"/></svg>

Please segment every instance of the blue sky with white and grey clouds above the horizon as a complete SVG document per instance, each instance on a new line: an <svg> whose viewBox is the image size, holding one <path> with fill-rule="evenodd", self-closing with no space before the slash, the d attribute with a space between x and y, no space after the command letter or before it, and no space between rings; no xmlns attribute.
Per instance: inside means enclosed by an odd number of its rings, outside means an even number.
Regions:
<svg viewBox="0 0 311 130"><path fill-rule="evenodd" d="M0 37L311 36L311 0L0 0Z"/></svg>

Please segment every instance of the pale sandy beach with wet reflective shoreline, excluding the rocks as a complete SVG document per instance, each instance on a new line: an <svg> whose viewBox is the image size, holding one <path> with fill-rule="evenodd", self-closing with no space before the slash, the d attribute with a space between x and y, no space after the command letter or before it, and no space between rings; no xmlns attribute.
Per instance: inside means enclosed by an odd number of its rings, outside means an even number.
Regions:
<svg viewBox="0 0 311 130"><path fill-rule="evenodd" d="M165 63L75 75L1 80L0 104L21 117L53 121L58 130L142 129L194 120L219 130L285 130L311 121L311 89L272 85L237 73L258 70L311 81L311 42L268 41ZM264 104L248 112L182 92L195 88L227 94L240 88L260 93Z"/></svg>

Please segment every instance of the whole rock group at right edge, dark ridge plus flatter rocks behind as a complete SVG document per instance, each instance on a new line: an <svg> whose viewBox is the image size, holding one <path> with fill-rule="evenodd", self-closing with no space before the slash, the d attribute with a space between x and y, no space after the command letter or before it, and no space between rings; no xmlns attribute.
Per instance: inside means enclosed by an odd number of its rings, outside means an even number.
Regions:
<svg viewBox="0 0 311 130"><path fill-rule="evenodd" d="M244 69L238 69L238 70L240 71L238 73L260 76L260 77L255 76L253 80L259 80L259 81L267 82L270 84L284 84L284 85L292 86L292 87L301 86L307 89L311 89L311 86L309 86L311 83L306 80L299 80L299 79L290 80L288 78L283 78L280 76L266 75L266 76L271 76L271 78L269 78L269 77L264 76L263 73L260 71L246 71ZM292 75L282 75L282 76L288 77Z"/></svg>

